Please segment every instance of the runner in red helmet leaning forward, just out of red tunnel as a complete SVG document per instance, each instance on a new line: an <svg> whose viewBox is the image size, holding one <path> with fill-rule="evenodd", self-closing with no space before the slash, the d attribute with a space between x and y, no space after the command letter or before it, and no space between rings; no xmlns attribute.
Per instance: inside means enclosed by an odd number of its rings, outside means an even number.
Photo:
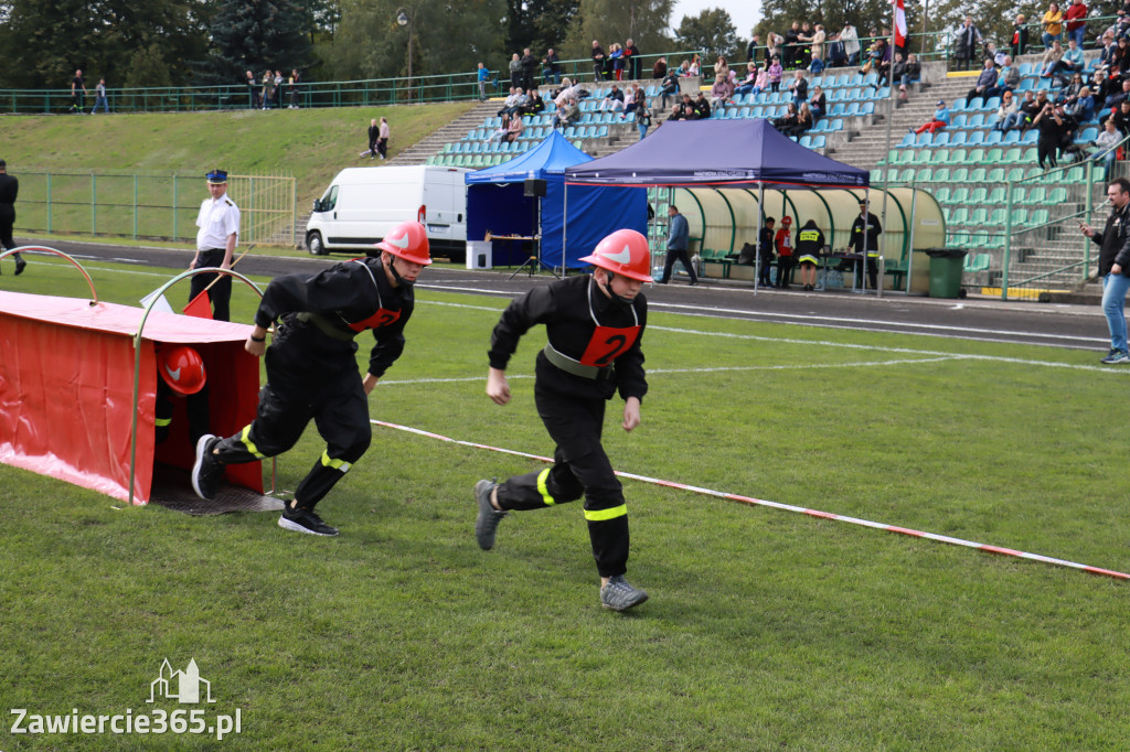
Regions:
<svg viewBox="0 0 1130 752"><path fill-rule="evenodd" d="M368 395L405 349L405 324L412 315L412 285L432 263L427 230L401 222L376 244L380 259L354 259L313 276L275 278L255 312L244 349L267 356L267 384L255 420L227 438L200 437L192 489L202 499L219 490L224 466L286 452L313 419L325 451L282 510L279 527L313 535L337 535L314 505L329 493L368 449ZM279 321L271 347L271 322ZM354 338L373 330L376 344L363 379Z"/></svg>

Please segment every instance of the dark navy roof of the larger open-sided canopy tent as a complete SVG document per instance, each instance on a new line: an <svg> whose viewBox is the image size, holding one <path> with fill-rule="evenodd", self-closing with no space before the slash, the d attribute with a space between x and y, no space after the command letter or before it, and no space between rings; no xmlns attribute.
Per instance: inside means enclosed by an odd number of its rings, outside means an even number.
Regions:
<svg viewBox="0 0 1130 752"><path fill-rule="evenodd" d="M667 121L621 151L567 168L565 180L599 185L864 187L870 173L800 146L768 121L742 119Z"/></svg>

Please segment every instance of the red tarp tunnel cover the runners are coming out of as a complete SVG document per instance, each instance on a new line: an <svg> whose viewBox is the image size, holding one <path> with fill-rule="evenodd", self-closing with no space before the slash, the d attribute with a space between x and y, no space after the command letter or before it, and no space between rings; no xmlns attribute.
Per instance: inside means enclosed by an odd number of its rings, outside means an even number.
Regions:
<svg viewBox="0 0 1130 752"><path fill-rule="evenodd" d="M129 498L133 335L142 308L0 291L0 462ZM155 343L191 344L205 361L211 432L228 436L255 417L259 360L243 349L245 324L150 313L141 340L133 498L149 500L154 463ZM184 406L157 455L191 467ZM262 491L260 464L227 479Z"/></svg>

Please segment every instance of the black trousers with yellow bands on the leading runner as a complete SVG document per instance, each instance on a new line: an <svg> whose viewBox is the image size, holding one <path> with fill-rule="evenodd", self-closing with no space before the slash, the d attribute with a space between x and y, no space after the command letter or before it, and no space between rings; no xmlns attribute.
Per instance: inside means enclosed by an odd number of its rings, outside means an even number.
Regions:
<svg viewBox="0 0 1130 752"><path fill-rule="evenodd" d="M498 487L503 509L545 509L584 496L592 556L601 577L627 571L628 516L624 489L600 444L605 400L564 399L541 386L533 388L538 416L557 444L554 465L515 475Z"/></svg>

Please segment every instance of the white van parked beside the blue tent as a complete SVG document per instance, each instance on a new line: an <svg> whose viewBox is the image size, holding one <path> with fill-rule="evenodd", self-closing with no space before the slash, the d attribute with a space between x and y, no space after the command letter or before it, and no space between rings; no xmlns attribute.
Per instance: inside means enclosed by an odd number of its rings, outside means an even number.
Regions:
<svg viewBox="0 0 1130 752"><path fill-rule="evenodd" d="M314 201L306 248L373 251L393 227L417 219L427 228L432 254L462 261L467 253L467 186L463 167L411 165L347 167Z"/></svg>

